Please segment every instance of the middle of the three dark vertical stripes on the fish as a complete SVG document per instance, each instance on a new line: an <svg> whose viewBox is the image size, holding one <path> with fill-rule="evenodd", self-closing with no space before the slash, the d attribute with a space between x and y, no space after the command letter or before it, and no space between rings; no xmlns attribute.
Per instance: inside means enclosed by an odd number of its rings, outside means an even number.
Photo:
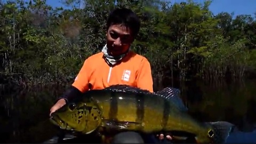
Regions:
<svg viewBox="0 0 256 144"><path fill-rule="evenodd" d="M143 122L144 113L145 113L145 109L144 109L145 99L141 93L136 94L135 98L136 98L136 110L137 110L136 122L141 124Z"/></svg>

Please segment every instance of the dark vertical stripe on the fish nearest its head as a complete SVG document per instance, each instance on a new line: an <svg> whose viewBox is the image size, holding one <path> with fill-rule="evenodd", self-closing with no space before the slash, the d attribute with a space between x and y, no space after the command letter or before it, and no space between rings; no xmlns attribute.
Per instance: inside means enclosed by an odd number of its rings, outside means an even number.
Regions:
<svg viewBox="0 0 256 144"><path fill-rule="evenodd" d="M117 111L118 111L118 98L116 92L111 92L110 98L110 109L109 109L109 118L110 119L117 119Z"/></svg>

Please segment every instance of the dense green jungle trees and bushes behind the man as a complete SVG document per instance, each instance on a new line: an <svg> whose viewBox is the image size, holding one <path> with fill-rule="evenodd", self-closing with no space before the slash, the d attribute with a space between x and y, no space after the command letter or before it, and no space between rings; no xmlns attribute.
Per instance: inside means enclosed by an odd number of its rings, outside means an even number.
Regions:
<svg viewBox="0 0 256 144"><path fill-rule="evenodd" d="M0 3L0 84L20 87L68 85L84 60L105 45L106 19L129 7L142 27L132 50L151 63L155 87L194 78L205 82L254 76L255 15L209 10L187 1L46 1ZM95 63L97 65L97 63Z"/></svg>

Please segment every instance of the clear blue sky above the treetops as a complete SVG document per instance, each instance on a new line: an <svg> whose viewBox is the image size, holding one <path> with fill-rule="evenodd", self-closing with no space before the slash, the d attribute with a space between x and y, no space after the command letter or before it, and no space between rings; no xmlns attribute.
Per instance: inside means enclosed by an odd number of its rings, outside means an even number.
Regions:
<svg viewBox="0 0 256 144"><path fill-rule="evenodd" d="M96 0L97 1L97 0ZM185 0L165 0L180 3ZM203 3L205 0L194 0L197 3ZM213 14L220 12L234 12L234 17L239 14L251 14L256 12L256 0L212 0L210 10ZM61 0L47 0L47 4L51 6L63 6Z"/></svg>

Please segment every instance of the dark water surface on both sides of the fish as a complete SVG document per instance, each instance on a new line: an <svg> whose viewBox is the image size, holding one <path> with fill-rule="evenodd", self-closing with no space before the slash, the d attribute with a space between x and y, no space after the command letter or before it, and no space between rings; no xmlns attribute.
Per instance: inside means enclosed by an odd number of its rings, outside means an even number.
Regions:
<svg viewBox="0 0 256 144"><path fill-rule="evenodd" d="M50 107L64 90L31 89L2 91L0 95L1 142L44 142L58 129L48 121ZM228 121L239 131L228 142L256 142L256 81L236 83L190 82L181 96L190 114L199 121ZM253 132L254 131L254 132Z"/></svg>

